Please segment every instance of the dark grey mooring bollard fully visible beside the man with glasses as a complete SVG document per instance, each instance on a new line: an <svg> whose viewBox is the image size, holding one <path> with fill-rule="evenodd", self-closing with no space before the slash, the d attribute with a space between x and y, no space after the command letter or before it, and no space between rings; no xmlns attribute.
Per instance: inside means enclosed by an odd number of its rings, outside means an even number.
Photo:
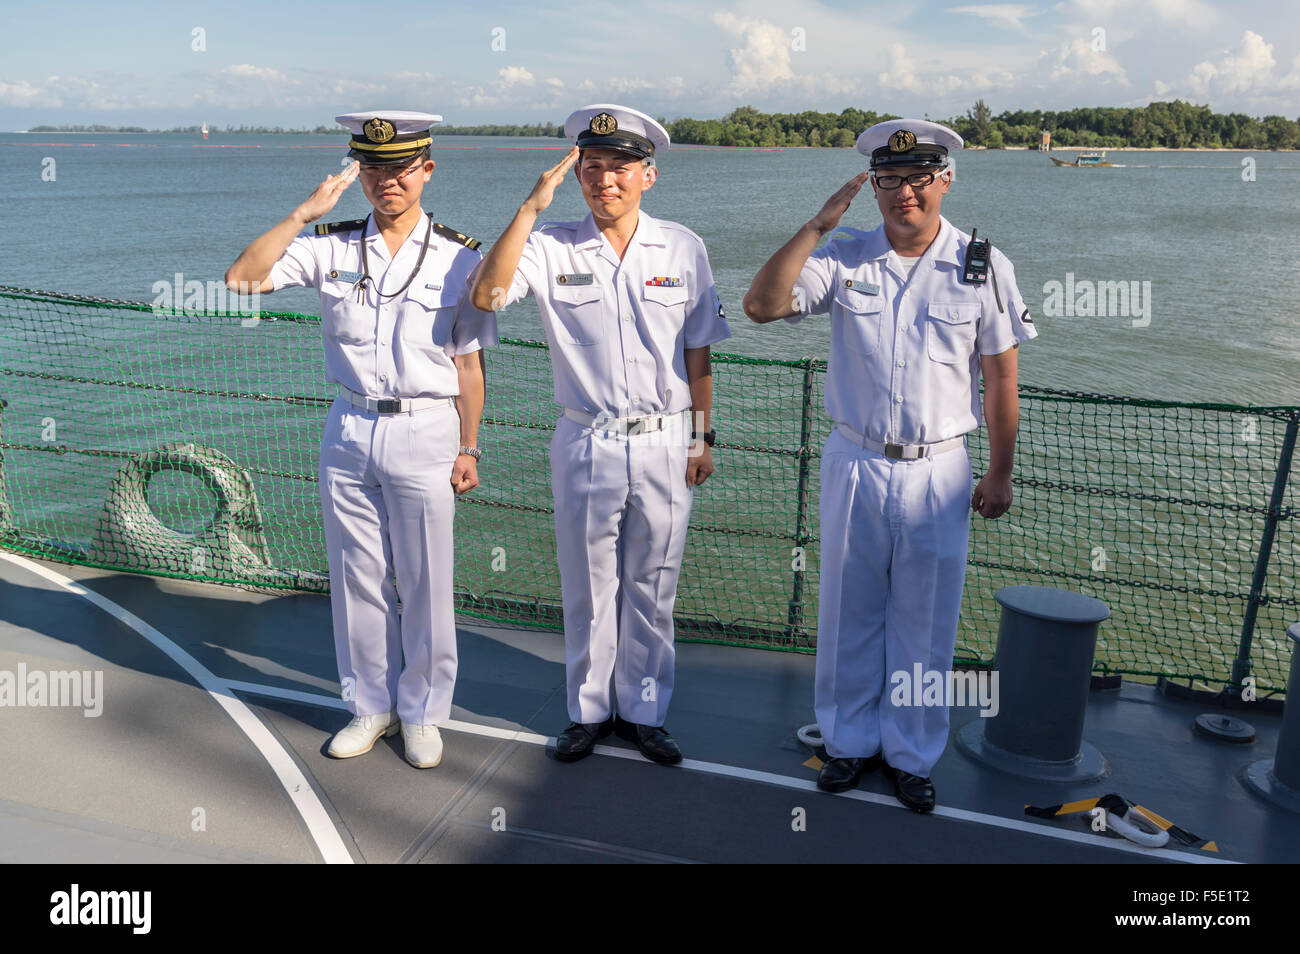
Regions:
<svg viewBox="0 0 1300 954"><path fill-rule="evenodd" d="M1097 628L1110 610L1100 599L1046 586L997 591L1002 621L993 668L996 716L975 719L957 745L993 768L1043 781L1089 781L1110 773L1083 741Z"/></svg>

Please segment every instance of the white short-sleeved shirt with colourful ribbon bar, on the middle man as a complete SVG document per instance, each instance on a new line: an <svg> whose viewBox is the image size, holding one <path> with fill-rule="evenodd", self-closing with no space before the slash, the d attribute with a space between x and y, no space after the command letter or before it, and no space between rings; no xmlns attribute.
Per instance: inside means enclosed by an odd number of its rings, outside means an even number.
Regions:
<svg viewBox="0 0 1300 954"><path fill-rule="evenodd" d="M641 213L619 260L588 214L528 237L506 304L536 295L556 403L615 417L690 407L685 348L731 337L705 243Z"/></svg>

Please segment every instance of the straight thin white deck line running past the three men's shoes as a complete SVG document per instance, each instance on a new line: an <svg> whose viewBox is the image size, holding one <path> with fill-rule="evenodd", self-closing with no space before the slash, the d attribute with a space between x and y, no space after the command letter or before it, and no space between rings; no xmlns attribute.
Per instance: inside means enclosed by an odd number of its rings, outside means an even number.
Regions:
<svg viewBox="0 0 1300 954"><path fill-rule="evenodd" d="M268 695L278 699L289 699L292 702L302 702L308 706L324 706L328 708L346 708L341 699L333 695L320 695L317 693L304 693L296 689L281 689L280 686L266 686L260 682L228 682L230 689L235 689L242 693L248 693L251 695ZM555 742L552 737L541 736L536 732L528 732L524 729L503 729L495 725L480 725L477 723L465 723L456 719L450 719L442 723L442 728L448 732L465 732L472 736L482 736L486 738L498 738L503 742L525 742L528 745L550 745ZM620 749L618 746L598 745L592 750L597 755L607 755L616 759L629 759L632 762L645 762L641 753L633 749ZM816 782L811 779L796 779L788 775L776 775L774 772L760 772L754 768L741 768L740 766L727 766L719 762L702 762L699 759L682 759L681 768L694 772L705 772L707 775L723 776L727 779L740 779L741 781L760 782L764 785L776 785L785 789L796 789L798 792L812 792L818 794L827 794L822 792ZM660 769L662 771L662 769ZM874 792L844 792L838 795L840 798L852 798L858 802L871 802L872 805L880 805L885 808L897 808L898 811L909 811L909 808L900 805L898 799L890 795L880 795ZM1056 838L1057 841L1069 841L1075 845L1088 845L1091 847L1109 849L1112 851L1127 851L1130 854L1141 855L1144 858L1162 858L1173 862L1183 862L1184 864L1240 864L1240 862L1234 862L1227 858L1217 858L1213 854L1192 854L1191 851L1178 851L1174 849L1148 849L1140 847L1127 841L1121 840L1102 840L1096 834L1088 834L1086 832L1070 832L1057 828L1049 828L1045 824L1035 824L1034 821L1024 821L1022 819L1002 818L1000 815L987 815L980 811L967 811L966 808L949 808L946 806L936 806L933 815L940 818L953 819L954 821L971 821L978 825L988 825L989 828L1005 828L1013 832L1026 832L1028 834L1037 834L1044 838Z"/></svg>

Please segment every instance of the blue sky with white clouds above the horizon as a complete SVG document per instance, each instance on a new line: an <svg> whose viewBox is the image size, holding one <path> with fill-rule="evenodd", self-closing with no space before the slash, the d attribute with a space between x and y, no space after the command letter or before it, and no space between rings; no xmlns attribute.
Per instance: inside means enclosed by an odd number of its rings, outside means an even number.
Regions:
<svg viewBox="0 0 1300 954"><path fill-rule="evenodd" d="M1145 105L1300 117L1294 0L125 3L0 0L0 131L448 125L846 107L942 118Z"/></svg>

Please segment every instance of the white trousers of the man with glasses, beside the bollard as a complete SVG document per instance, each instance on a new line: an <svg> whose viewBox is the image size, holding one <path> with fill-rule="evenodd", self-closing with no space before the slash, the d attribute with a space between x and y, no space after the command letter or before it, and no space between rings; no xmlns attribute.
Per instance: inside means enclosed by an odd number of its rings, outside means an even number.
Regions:
<svg viewBox="0 0 1300 954"><path fill-rule="evenodd" d="M890 677L953 664L972 490L965 447L889 460L832 430L822 454L820 608L814 707L827 754L883 751L930 776L945 706L896 706ZM909 702L911 698L909 697Z"/></svg>

